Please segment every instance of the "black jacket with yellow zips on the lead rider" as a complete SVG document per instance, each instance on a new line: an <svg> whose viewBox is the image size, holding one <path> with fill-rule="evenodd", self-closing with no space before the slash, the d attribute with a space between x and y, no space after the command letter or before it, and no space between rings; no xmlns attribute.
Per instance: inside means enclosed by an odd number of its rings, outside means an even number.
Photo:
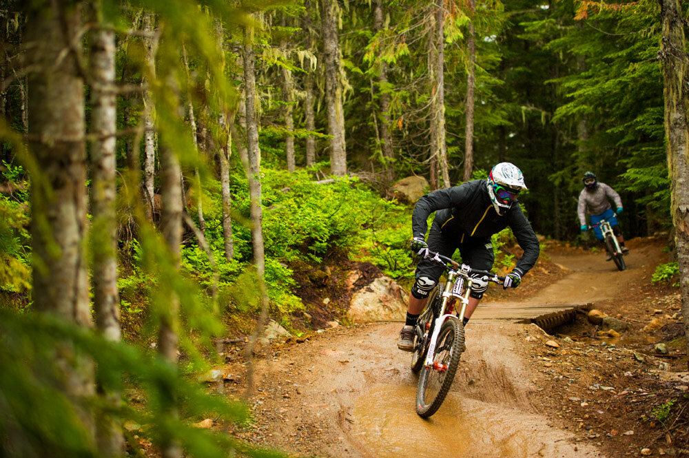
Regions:
<svg viewBox="0 0 689 458"><path fill-rule="evenodd" d="M486 180L472 180L460 186L438 189L420 198L411 216L414 237L424 238L428 229L426 220L433 211L433 225L438 225L446 238L455 239L457 243L470 240L487 243L494 233L509 227L524 249L524 256L517 261L517 267L526 273L538 259L538 239L518 202L506 214L498 215L488 194Z"/></svg>

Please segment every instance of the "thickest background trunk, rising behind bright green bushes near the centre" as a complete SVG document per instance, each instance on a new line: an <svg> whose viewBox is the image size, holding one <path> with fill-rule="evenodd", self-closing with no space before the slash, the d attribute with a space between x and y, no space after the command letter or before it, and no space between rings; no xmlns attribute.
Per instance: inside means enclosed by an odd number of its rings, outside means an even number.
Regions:
<svg viewBox="0 0 689 458"><path fill-rule="evenodd" d="M340 85L340 45L338 43L337 0L321 0L323 60L325 61L325 101L328 111L330 139L330 171L333 175L347 174L345 147L345 114Z"/></svg>

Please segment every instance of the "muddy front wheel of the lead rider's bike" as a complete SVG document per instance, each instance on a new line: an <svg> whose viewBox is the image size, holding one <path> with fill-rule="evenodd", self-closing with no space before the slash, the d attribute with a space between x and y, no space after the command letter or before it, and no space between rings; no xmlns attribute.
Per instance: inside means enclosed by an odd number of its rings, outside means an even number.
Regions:
<svg viewBox="0 0 689 458"><path fill-rule="evenodd" d="M419 375L416 391L416 413L422 418L433 415L445 400L455 379L460 355L464 348L464 326L451 318L440 327L433 355L433 367L424 368Z"/></svg>

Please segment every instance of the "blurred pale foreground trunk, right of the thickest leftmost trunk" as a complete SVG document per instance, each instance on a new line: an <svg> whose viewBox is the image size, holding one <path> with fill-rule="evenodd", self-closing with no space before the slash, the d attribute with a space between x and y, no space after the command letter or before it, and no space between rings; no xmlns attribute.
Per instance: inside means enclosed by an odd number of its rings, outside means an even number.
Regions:
<svg viewBox="0 0 689 458"><path fill-rule="evenodd" d="M96 16L98 12L96 12ZM98 20L98 19L96 19ZM94 29L91 35L90 70L91 123L94 134L108 136L95 140L91 147L92 190L92 255L94 310L96 324L105 339L119 342L121 329L117 290L117 220L115 212L116 173L116 100L115 34L112 30ZM105 393L108 402L119 406L119 393ZM124 437L116 417L97 422L97 441L101 457L119 457L124 453Z"/></svg>

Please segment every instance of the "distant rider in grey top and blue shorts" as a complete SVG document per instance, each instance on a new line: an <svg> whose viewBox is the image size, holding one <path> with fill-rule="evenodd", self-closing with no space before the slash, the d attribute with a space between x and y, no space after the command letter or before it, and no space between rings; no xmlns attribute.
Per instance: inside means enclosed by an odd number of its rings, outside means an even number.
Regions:
<svg viewBox="0 0 689 458"><path fill-rule="evenodd" d="M610 227L613 229L613 233L617 236L622 254L629 253L629 249L624 246L622 230L619 228L619 222L617 222L617 215L622 213L622 200L619 198L619 194L617 194L612 187L599 182L593 171L587 171L582 181L584 182L584 189L582 189L581 194L579 194L579 206L577 207L582 231L588 231L588 226L586 225L587 212L591 218L591 225L596 225L604 219L608 220L608 222L610 222ZM610 199L615 202L617 211L613 211L613 207L610 205ZM615 215L616 213L617 215ZM600 227L595 226L593 228L593 233L599 241L605 244ZM612 253L608 253L606 249L606 261L611 259L613 259L613 255Z"/></svg>

